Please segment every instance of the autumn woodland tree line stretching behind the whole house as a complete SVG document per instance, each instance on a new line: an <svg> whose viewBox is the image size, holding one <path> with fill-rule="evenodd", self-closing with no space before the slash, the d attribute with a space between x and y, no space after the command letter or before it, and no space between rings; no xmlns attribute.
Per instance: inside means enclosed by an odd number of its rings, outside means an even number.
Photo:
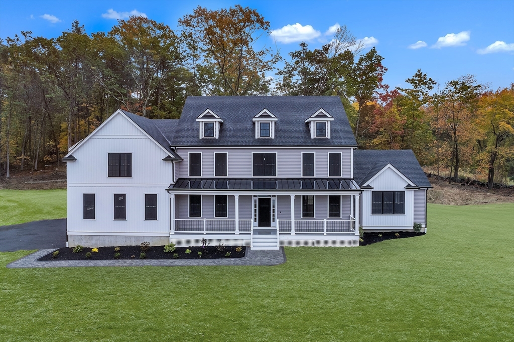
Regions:
<svg viewBox="0 0 514 342"><path fill-rule="evenodd" d="M418 70L407 88L391 89L383 57L375 48L363 53L346 26L321 48L301 43L287 56L263 44L269 34L258 11L236 5L198 6L176 31L133 16L108 32L87 34L75 21L57 38L7 37L0 172L9 178L11 168L58 162L118 108L168 119L188 96L332 95L360 148L412 149L454 182L463 169L489 186L514 177L514 85L493 91L473 75L439 85Z"/></svg>

